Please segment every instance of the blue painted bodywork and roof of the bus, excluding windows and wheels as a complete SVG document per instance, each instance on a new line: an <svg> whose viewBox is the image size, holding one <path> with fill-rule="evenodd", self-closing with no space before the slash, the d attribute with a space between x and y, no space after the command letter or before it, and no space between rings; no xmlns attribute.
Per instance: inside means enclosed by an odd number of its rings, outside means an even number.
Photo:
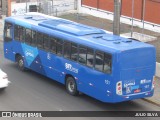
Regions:
<svg viewBox="0 0 160 120"><path fill-rule="evenodd" d="M128 40L105 33L98 28L64 19L57 20L32 15L28 19L26 16L7 17L5 22L84 45L94 51L108 53L112 57L112 72L103 73L95 68L58 56L50 50L38 49L16 40L4 42L4 55L11 61L15 62L15 55L20 54L24 56L25 67L62 84L65 84L66 74L72 75L76 79L77 89L80 92L103 102L116 103L153 95L152 78L155 75L156 54L155 47L152 45ZM6 49L10 51L7 53ZM145 84L140 83L144 79L151 80L148 83L149 88L145 88ZM106 84L106 81L110 81L110 84ZM118 82L122 83L119 88L122 88L122 95L116 94ZM141 92L135 94L134 89L138 88ZM148 91L150 94L146 95ZM125 97L127 95L129 98Z"/></svg>

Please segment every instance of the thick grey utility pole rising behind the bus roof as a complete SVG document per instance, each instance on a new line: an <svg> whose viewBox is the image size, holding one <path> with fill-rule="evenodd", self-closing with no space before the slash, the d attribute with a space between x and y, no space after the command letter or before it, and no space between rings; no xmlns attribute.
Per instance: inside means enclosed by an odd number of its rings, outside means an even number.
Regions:
<svg viewBox="0 0 160 120"><path fill-rule="evenodd" d="M121 0L114 0L114 20L113 20L113 34L120 35L120 7Z"/></svg>

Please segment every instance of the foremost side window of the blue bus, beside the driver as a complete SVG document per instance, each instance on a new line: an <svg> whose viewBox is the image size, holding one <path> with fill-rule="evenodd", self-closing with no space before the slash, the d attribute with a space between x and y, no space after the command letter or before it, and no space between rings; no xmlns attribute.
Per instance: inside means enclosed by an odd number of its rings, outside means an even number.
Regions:
<svg viewBox="0 0 160 120"><path fill-rule="evenodd" d="M6 22L4 27L5 42L12 41L12 30L13 30L13 25L11 23Z"/></svg>

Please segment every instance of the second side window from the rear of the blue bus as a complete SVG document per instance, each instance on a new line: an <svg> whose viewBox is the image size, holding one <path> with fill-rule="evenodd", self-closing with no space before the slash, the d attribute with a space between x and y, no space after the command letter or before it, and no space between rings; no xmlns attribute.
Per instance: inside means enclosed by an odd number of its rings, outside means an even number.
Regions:
<svg viewBox="0 0 160 120"><path fill-rule="evenodd" d="M95 69L103 72L103 63L104 63L104 53L100 51L96 51L95 57Z"/></svg>

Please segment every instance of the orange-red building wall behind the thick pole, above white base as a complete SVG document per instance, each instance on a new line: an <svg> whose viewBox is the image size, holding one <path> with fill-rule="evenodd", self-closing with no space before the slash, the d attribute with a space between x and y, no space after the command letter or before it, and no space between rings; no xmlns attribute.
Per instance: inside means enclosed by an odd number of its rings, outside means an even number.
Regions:
<svg viewBox="0 0 160 120"><path fill-rule="evenodd" d="M81 0L81 6L113 14L114 0ZM121 0L121 16L124 17L133 16L134 19L159 25L159 11L160 0Z"/></svg>

